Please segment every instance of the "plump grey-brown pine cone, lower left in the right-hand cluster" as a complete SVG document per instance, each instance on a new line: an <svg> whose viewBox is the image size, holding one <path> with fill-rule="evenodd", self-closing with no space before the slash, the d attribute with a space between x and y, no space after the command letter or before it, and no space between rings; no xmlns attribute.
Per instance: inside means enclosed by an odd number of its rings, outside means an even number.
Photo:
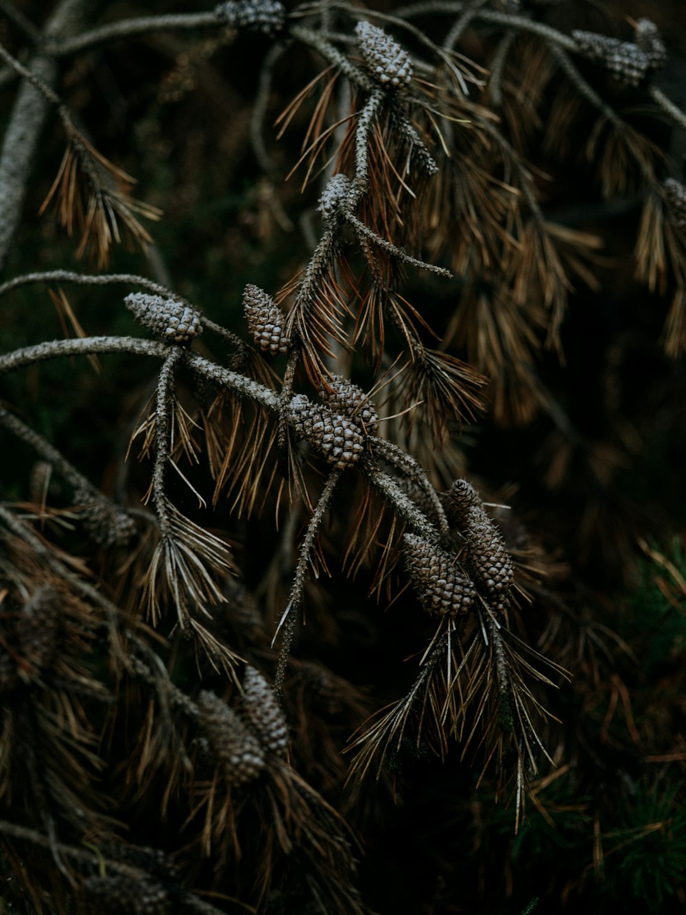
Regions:
<svg viewBox="0 0 686 915"><path fill-rule="evenodd" d="M415 533L402 539L407 572L423 608L440 617L467 613L476 591L455 556Z"/></svg>

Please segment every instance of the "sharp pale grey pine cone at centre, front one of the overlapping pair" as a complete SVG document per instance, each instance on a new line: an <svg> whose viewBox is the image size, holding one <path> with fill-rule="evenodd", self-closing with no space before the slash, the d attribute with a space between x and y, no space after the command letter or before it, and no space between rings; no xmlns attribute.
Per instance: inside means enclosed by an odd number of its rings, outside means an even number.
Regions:
<svg viewBox="0 0 686 915"><path fill-rule="evenodd" d="M329 463L344 470L359 460L364 435L357 423L327 406L313 404L305 394L296 394L287 408L295 431L322 451Z"/></svg>

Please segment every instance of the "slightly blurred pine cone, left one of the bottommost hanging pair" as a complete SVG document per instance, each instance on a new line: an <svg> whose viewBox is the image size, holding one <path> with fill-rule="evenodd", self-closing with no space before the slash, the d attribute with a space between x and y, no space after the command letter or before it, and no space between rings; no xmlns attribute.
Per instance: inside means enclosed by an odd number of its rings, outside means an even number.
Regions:
<svg viewBox="0 0 686 915"><path fill-rule="evenodd" d="M200 727L209 739L224 778L238 787L255 780L264 769L263 748L239 716L214 693L198 696Z"/></svg>

